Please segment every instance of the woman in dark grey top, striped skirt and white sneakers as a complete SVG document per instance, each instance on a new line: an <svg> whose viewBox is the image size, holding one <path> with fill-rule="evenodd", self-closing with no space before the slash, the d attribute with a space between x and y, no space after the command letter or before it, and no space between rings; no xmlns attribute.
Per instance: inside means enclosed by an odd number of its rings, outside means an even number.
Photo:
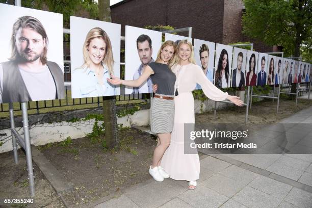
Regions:
<svg viewBox="0 0 312 208"><path fill-rule="evenodd" d="M170 144L170 134L174 119L174 84L175 74L170 67L175 64L177 50L173 41L166 41L161 46L157 59L149 63L137 80L120 80L113 76L107 79L113 85L125 85L128 87L139 87L150 76L159 89L155 93L150 109L151 131L157 133L158 145L153 154L152 165L149 167L150 175L157 181L163 181L169 174L160 166L164 152Z"/></svg>

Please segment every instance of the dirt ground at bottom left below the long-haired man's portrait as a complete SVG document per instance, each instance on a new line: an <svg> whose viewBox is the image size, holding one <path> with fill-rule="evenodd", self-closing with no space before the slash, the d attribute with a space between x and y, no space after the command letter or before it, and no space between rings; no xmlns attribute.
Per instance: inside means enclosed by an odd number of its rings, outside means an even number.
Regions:
<svg viewBox="0 0 312 208"><path fill-rule="evenodd" d="M18 159L18 164L15 164L12 151L0 154L0 207L64 207L60 197L51 187L36 164L33 164L36 192L34 203L4 203L4 199L6 198L31 198L25 154L21 149L18 150Z"/></svg>

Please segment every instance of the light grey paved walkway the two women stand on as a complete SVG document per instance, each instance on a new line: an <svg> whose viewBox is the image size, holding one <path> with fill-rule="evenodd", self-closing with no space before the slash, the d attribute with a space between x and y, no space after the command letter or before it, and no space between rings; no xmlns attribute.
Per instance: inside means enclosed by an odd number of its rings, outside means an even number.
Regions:
<svg viewBox="0 0 312 208"><path fill-rule="evenodd" d="M280 123L300 123L293 128L312 147L312 107ZM95 207L312 207L312 154L212 154L200 166L195 190L150 179Z"/></svg>

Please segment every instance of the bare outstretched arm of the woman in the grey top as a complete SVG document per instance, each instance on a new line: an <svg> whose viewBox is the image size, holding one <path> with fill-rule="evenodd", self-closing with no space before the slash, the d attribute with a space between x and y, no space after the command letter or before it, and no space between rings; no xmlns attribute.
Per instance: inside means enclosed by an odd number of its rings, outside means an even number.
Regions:
<svg viewBox="0 0 312 208"><path fill-rule="evenodd" d="M120 80L118 77L112 76L112 79L107 78L107 81L113 85L125 85L128 87L140 87L148 79L148 77L153 73L154 73L154 71L149 66L146 66L144 72L142 73L142 75L137 80Z"/></svg>

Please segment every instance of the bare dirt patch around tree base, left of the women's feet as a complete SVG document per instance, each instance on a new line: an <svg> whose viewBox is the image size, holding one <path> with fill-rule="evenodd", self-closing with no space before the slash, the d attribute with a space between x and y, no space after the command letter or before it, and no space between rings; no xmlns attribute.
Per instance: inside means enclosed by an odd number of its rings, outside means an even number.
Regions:
<svg viewBox="0 0 312 208"><path fill-rule="evenodd" d="M75 207L105 197L150 178L156 140L135 129L119 134L124 150L103 150L89 138L75 139L68 146L43 146L41 152L74 185L63 194L66 203Z"/></svg>

